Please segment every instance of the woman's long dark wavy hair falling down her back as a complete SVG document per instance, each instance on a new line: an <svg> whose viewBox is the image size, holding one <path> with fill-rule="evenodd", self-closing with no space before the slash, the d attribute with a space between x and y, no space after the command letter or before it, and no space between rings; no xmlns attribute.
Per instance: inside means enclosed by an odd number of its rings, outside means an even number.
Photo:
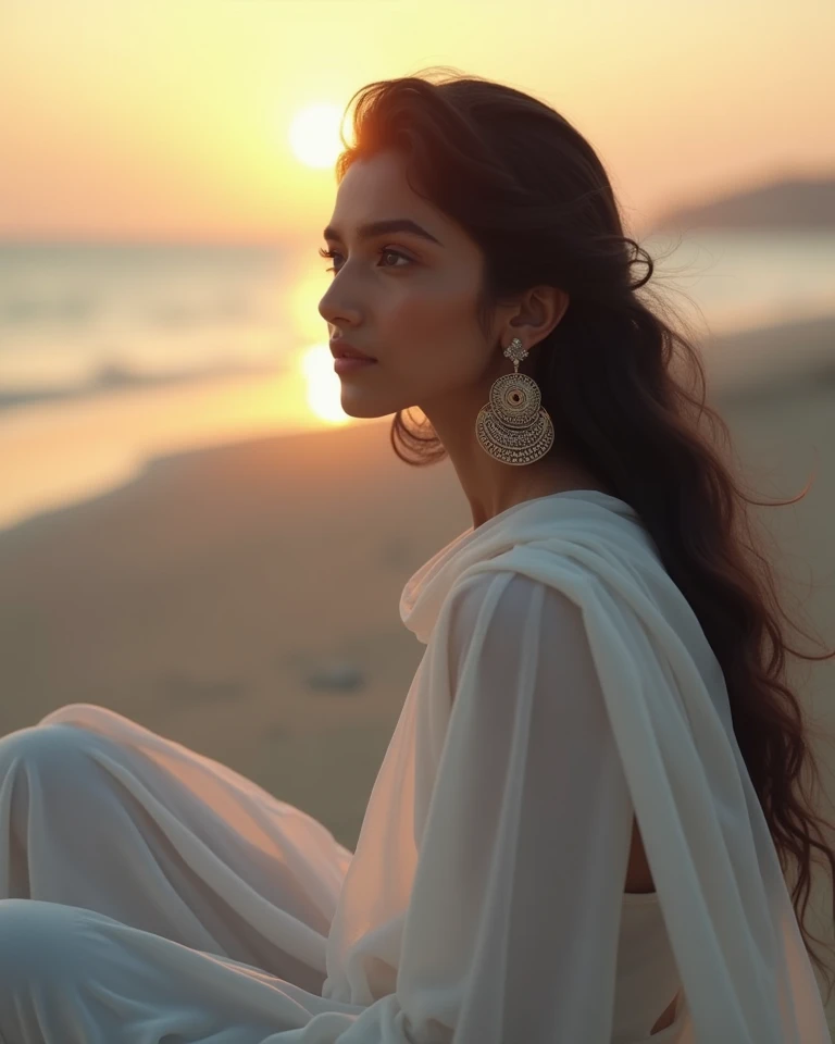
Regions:
<svg viewBox="0 0 835 1044"><path fill-rule="evenodd" d="M342 137L337 179L354 160L384 149L408 158L413 190L483 251L476 318L485 335L493 307L506 297L543 284L570 296L562 320L527 360L554 447L635 508L696 613L723 670L734 732L781 867L784 874L789 863L796 870L792 900L811 950L803 921L812 849L828 861L834 885L835 853L822 830L832 826L815 813L814 788L802 779L807 771L820 786L810 725L785 667L786 654L823 660L835 650L814 656L787 644L781 621L799 629L780 606L748 512L748 505L795 504L808 486L782 501L743 492L719 445L730 447L728 426L706 405L699 351L661 318L664 299L644 291L653 260L624 235L607 173L585 138L545 102L448 70L357 91L353 141ZM646 266L640 277L633 277L636 264ZM650 308L646 298L653 297ZM447 456L426 418L407 423L398 411L390 438L409 464Z"/></svg>

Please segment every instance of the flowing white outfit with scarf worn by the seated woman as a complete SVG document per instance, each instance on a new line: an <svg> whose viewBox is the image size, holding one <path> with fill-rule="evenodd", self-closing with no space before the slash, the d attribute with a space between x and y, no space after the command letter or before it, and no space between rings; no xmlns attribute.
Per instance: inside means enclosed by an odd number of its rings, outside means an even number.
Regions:
<svg viewBox="0 0 835 1044"><path fill-rule="evenodd" d="M0 739L2 1044L831 1042L719 664L626 504L509 508L400 612L426 649L354 855L102 707Z"/></svg>

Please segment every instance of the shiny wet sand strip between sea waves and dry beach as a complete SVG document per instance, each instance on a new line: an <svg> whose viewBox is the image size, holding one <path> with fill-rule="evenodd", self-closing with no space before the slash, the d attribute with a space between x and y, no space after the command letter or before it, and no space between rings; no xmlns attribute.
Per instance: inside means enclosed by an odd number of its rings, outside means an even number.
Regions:
<svg viewBox="0 0 835 1044"><path fill-rule="evenodd" d="M835 381L835 314L746 330L700 345L709 400L768 395L789 383ZM326 423L292 368L212 378L189 387L126 387L108 396L11 410L0 418L0 539L141 477L170 456L220 452L301 433L337 436L367 421ZM388 423L388 421L386 422Z"/></svg>

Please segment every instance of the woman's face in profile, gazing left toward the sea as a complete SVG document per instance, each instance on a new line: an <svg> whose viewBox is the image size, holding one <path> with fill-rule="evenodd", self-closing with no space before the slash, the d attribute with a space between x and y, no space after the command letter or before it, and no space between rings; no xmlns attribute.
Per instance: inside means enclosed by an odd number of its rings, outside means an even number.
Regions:
<svg viewBox="0 0 835 1044"><path fill-rule="evenodd" d="M351 417L414 406L432 417L454 402L460 415L469 393L477 411L503 372L498 335L485 338L476 322L482 252L411 190L403 163L390 151L356 161L325 231L335 272L319 311L332 337L377 360L340 374L341 406ZM408 229L363 235L367 224L402 221L432 238ZM485 373L490 366L491 376Z"/></svg>

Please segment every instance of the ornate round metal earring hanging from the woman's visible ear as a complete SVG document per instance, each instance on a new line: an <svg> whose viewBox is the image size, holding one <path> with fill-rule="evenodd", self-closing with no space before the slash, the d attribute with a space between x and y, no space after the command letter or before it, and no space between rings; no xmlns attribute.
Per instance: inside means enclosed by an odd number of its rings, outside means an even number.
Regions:
<svg viewBox="0 0 835 1044"><path fill-rule="evenodd" d="M494 381L490 398L475 419L475 435L486 453L506 464L533 464L553 445L553 424L540 403L543 395L533 377L519 372L528 355L519 337L504 349L513 373Z"/></svg>

